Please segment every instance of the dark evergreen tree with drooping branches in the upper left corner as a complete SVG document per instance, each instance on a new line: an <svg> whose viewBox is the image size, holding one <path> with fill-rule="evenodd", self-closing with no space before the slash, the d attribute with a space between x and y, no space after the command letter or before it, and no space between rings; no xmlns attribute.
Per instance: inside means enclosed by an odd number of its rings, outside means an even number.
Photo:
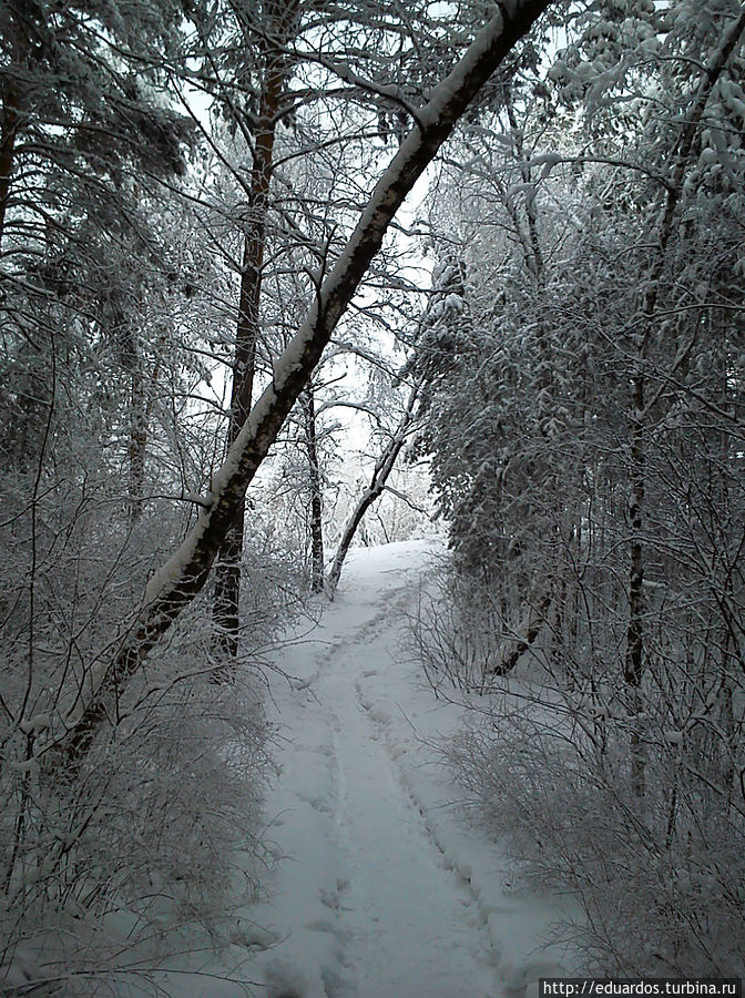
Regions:
<svg viewBox="0 0 745 998"><path fill-rule="evenodd" d="M35 357L32 408L45 409L55 354L90 363L99 340L118 357L118 383L131 383L136 519L153 387L137 294L169 296L176 284L147 206L184 173L191 138L162 100L180 4L135 2L125 17L116 3L98 17L88 7L39 0L0 13L0 316L7 356Z"/></svg>

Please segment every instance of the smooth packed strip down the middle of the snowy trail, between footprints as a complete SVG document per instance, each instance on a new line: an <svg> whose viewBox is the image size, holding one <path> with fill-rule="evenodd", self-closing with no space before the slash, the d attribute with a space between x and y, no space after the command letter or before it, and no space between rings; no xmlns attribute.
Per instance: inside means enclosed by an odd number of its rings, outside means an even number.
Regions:
<svg viewBox="0 0 745 998"><path fill-rule="evenodd" d="M390 608L370 618L361 632L371 634L381 619L390 619ZM493 947L476 895L448 864L360 703L354 661L360 637L329 658L318 688L322 702L333 696L337 709L337 828L348 879L339 919L349 940L353 994L491 998ZM351 654L345 654L347 646ZM375 651L367 645L367 664Z"/></svg>

